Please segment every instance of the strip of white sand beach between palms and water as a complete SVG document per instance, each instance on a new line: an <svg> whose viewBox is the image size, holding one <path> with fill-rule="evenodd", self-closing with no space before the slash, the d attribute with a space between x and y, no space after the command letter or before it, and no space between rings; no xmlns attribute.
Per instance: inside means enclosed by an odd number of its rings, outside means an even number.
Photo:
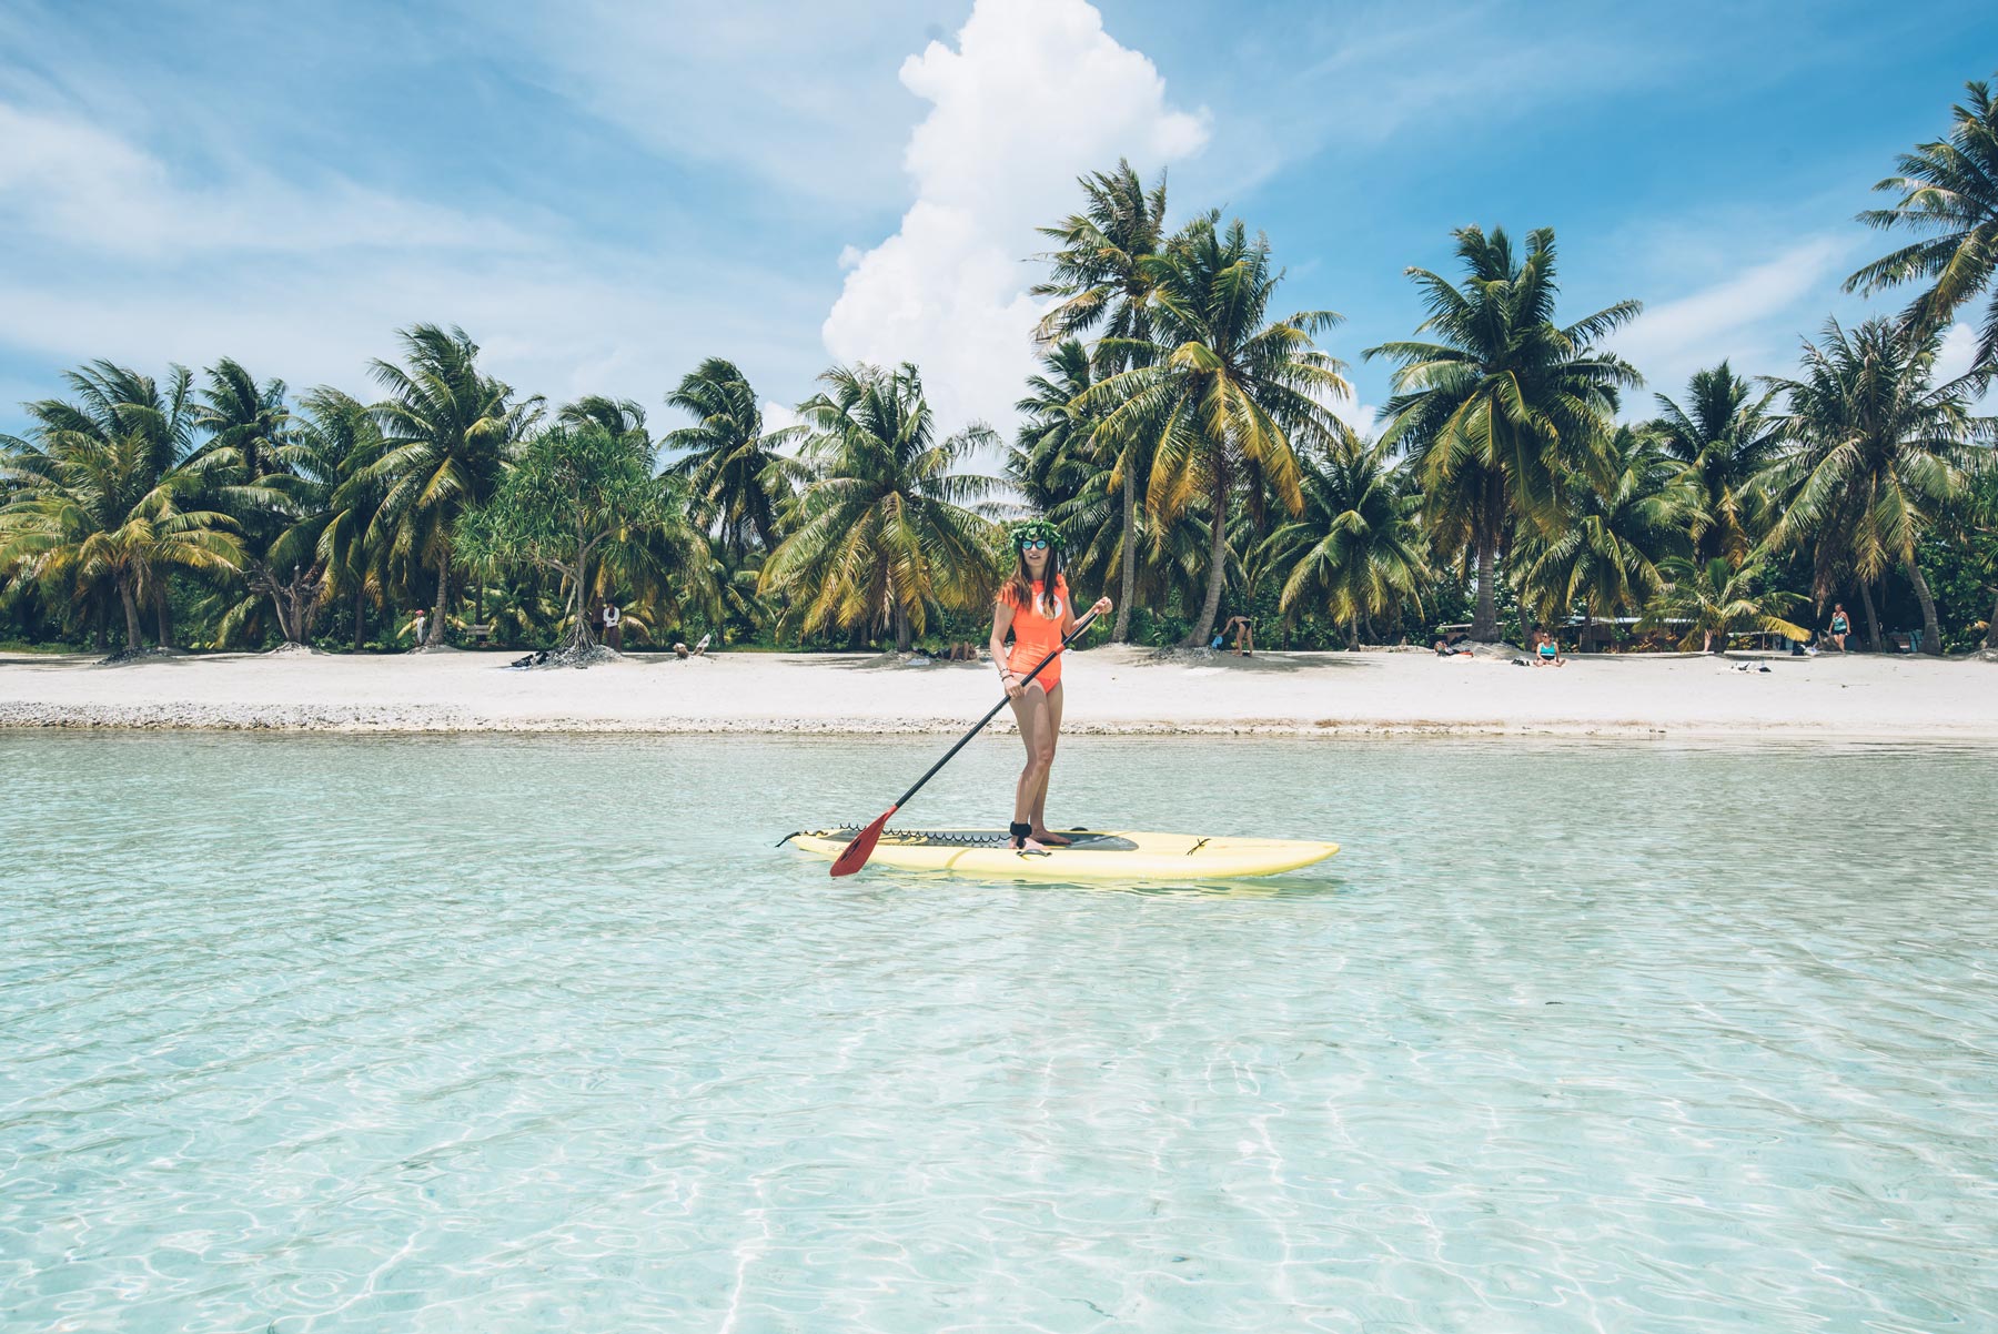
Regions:
<svg viewBox="0 0 1998 1334"><path fill-rule="evenodd" d="M513 657L234 653L100 667L0 655L0 727L947 733L997 699L987 663L637 653L587 671L513 671ZM1598 655L1556 669L1391 649L1111 647L1071 655L1065 673L1071 735L1998 739L1998 665L1964 659ZM1001 713L995 727L1007 725Z"/></svg>

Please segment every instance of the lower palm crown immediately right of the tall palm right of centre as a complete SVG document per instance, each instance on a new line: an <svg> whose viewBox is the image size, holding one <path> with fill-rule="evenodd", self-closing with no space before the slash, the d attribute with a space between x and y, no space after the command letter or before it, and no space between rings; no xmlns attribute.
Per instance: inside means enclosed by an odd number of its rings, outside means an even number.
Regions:
<svg viewBox="0 0 1998 1334"><path fill-rule="evenodd" d="M1580 603L1596 621L1640 609L1664 585L1660 563L1684 549L1698 513L1692 477L1650 435L1618 427L1608 441L1608 481L1568 473L1568 521L1532 529L1514 547L1520 605L1558 621ZM1738 555L1712 555L1740 563ZM1694 563L1702 563L1694 557Z"/></svg>

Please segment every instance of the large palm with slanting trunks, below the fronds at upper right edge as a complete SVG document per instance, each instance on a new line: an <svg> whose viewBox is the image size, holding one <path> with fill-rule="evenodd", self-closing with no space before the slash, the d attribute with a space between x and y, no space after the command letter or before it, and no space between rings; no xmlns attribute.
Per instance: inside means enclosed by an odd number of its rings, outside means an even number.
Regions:
<svg viewBox="0 0 1998 1334"><path fill-rule="evenodd" d="M1932 383L1940 345L1934 328L1868 320L1848 334L1826 320L1822 343L1804 343L1804 377L1766 381L1788 399L1774 417L1784 453L1766 473L1782 503L1770 545L1810 543L1818 601L1848 565L1870 607L1898 561L1922 603L1926 653L1942 653L1942 635L1916 547L1964 485L1966 443L1992 433L1988 417L1970 415L1976 371Z"/></svg>

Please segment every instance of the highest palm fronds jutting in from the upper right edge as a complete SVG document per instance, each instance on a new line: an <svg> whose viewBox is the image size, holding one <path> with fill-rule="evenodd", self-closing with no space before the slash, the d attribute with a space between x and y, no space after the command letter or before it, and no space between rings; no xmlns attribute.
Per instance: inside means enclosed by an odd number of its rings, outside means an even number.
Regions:
<svg viewBox="0 0 1998 1334"><path fill-rule="evenodd" d="M1968 106L1950 108L1950 138L1918 144L1900 156L1900 176L1874 190L1900 194L1894 208L1874 208L1860 222L1890 232L1930 232L1928 240L1902 246L1846 280L1846 292L1880 292L1928 282L1914 298L1908 320L1920 330L1940 330L1964 302L1990 290L1976 365L1998 373L1998 104L1990 84L1964 84Z"/></svg>

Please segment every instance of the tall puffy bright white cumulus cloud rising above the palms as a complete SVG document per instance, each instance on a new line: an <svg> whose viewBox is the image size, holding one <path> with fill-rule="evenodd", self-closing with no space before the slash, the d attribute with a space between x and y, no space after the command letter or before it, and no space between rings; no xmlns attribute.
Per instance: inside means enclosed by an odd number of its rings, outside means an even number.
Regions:
<svg viewBox="0 0 1998 1334"><path fill-rule="evenodd" d="M821 330L839 361L915 361L945 429L1005 427L1033 371L1035 226L1079 206L1075 178L1129 158L1149 174L1207 142L1141 52L1083 0L979 0L957 44L901 66L931 104L903 166L915 202L855 256Z"/></svg>

